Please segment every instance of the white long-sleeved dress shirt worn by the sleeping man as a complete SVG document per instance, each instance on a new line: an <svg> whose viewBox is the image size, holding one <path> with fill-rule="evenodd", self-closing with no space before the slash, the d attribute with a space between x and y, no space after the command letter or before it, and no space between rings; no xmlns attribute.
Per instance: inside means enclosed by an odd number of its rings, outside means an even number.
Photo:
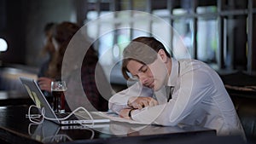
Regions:
<svg viewBox="0 0 256 144"><path fill-rule="evenodd" d="M166 86L174 87L170 101L167 101ZM172 59L172 72L166 86L154 92L136 83L113 95L109 108L119 112L128 107L131 96L155 96L158 106L135 110L131 118L166 126L197 125L216 130L218 135L244 136L230 95L218 73L207 64L199 60Z"/></svg>

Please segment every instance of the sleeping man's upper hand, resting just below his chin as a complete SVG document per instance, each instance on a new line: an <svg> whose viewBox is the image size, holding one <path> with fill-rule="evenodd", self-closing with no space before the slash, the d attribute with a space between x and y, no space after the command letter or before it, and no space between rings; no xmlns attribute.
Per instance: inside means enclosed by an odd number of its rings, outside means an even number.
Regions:
<svg viewBox="0 0 256 144"><path fill-rule="evenodd" d="M143 107L154 107L158 102L152 97L136 97L133 96L128 100L128 106L134 109L142 109Z"/></svg>

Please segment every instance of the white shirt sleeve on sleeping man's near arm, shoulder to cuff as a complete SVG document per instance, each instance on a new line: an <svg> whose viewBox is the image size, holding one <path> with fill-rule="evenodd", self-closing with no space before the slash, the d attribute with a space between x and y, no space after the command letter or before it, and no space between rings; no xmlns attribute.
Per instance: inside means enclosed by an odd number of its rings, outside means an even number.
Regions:
<svg viewBox="0 0 256 144"><path fill-rule="evenodd" d="M186 72L179 78L171 101L156 107L137 110L132 113L132 118L139 122L177 125L211 92L212 80L207 72L196 70Z"/></svg>

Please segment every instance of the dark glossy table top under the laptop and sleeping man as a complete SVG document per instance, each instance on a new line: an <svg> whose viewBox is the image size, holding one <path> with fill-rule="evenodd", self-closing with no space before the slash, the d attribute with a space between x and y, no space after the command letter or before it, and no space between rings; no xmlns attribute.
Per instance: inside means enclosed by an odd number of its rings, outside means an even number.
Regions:
<svg viewBox="0 0 256 144"><path fill-rule="evenodd" d="M11 95L9 93L9 95ZM2 97L3 98L3 97ZM15 105L0 106L0 143L109 143L109 144L154 144L154 143L243 143L236 136L217 136L215 130L189 125L160 126L128 124L111 121L95 124L94 128L81 125L62 126L44 120L42 124L32 124L26 117L31 101ZM0 101L6 101L4 98ZM18 100L20 101L20 100Z"/></svg>

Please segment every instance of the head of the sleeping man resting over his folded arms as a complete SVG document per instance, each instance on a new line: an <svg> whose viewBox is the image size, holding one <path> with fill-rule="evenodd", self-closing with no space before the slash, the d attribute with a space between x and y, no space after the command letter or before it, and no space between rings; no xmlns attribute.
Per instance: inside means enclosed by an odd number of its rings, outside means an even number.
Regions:
<svg viewBox="0 0 256 144"><path fill-rule="evenodd" d="M126 79L129 74L138 78L144 86L158 90L171 71L171 56L162 43L154 37L137 37L123 52L122 72Z"/></svg>

